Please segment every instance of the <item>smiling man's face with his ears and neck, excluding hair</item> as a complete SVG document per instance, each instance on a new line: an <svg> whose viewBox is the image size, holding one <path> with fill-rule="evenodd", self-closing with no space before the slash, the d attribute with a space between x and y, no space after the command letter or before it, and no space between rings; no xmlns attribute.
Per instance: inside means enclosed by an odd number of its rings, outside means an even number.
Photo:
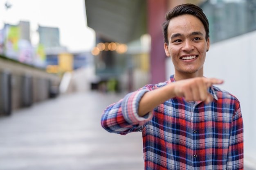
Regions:
<svg viewBox="0 0 256 170"><path fill-rule="evenodd" d="M175 67L175 78L203 76L203 65L210 40L205 39L202 22L193 15L181 15L170 20L166 55Z"/></svg>

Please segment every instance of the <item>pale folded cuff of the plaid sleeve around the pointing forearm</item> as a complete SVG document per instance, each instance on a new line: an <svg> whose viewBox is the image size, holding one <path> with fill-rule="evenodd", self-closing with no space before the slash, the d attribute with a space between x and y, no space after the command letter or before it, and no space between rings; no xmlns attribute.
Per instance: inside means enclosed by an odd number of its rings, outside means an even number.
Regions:
<svg viewBox="0 0 256 170"><path fill-rule="evenodd" d="M133 126L142 126L153 117L151 111L148 112L144 117L140 117L138 115L139 101L146 92L149 92L149 90L143 89L129 93L124 97L124 100L122 101L121 105L124 119Z"/></svg>

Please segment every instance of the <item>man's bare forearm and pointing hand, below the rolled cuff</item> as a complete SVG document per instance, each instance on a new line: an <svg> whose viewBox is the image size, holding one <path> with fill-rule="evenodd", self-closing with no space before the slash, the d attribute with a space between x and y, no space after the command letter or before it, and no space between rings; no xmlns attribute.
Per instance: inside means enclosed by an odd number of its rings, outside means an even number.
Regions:
<svg viewBox="0 0 256 170"><path fill-rule="evenodd" d="M139 102L139 116L143 117L149 111L174 97L184 97L186 101L204 101L209 103L213 97L208 93L207 89L213 84L222 84L223 81L216 78L189 78L186 80L170 83L159 89L147 92L142 96Z"/></svg>

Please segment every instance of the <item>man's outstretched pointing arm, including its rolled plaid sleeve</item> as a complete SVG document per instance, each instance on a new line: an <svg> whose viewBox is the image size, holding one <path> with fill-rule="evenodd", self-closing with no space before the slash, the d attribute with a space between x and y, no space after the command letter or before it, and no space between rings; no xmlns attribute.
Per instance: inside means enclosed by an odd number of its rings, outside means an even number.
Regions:
<svg viewBox="0 0 256 170"><path fill-rule="evenodd" d="M145 86L107 107L101 116L101 125L109 132L122 135L139 131L140 127L153 117L151 111L166 100L184 97L187 101L202 100L209 103L213 98L207 89L222 82L216 78L198 77L170 83L160 88Z"/></svg>

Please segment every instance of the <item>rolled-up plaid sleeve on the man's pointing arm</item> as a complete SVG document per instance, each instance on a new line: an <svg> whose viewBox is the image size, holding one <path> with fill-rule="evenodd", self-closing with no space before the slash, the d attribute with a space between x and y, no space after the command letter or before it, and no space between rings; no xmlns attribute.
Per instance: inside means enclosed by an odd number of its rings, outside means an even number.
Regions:
<svg viewBox="0 0 256 170"><path fill-rule="evenodd" d="M144 117L138 115L139 101L150 89L141 89L127 94L123 99L108 106L101 116L101 126L111 133L126 135L134 131L141 131L141 126L152 119L149 112Z"/></svg>

